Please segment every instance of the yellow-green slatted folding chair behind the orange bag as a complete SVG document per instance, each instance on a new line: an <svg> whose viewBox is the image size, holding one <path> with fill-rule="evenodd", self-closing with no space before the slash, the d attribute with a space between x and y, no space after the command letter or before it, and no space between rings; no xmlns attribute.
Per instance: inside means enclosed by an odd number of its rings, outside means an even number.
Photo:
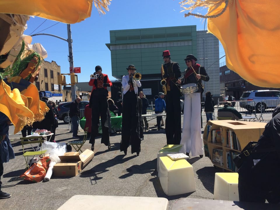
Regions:
<svg viewBox="0 0 280 210"><path fill-rule="evenodd" d="M42 150L42 143L44 142L44 140L42 138L38 138L38 140L35 140L35 141L24 141L24 140L26 140L25 137L21 137L20 139L21 139L22 151L23 151L22 155L26 162L26 168L28 169L29 168L28 161L36 156L44 156L47 150ZM30 144L30 146L33 148L33 151L26 151L26 149L24 149L24 146L27 144ZM32 146L32 144L38 144L36 151L35 151L34 147ZM32 157L32 158L30 158L30 157Z"/></svg>

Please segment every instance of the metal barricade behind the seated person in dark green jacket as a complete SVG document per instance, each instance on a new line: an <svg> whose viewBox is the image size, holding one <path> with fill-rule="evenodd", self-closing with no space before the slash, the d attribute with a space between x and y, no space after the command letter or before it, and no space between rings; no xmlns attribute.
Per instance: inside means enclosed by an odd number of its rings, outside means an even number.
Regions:
<svg viewBox="0 0 280 210"><path fill-rule="evenodd" d="M223 107L227 101L220 101L218 102L218 109ZM255 101L230 101L235 108L241 115L241 120L251 120L257 117L256 110L255 110Z"/></svg>

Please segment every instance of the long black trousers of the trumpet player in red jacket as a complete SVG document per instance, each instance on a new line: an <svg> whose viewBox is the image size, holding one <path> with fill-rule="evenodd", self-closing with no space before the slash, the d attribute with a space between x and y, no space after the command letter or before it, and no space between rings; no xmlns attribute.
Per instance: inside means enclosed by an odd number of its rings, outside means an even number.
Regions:
<svg viewBox="0 0 280 210"><path fill-rule="evenodd" d="M102 137L101 143L106 146L110 143L109 127L108 127L108 102L105 95L92 96L91 111L91 135L89 143L95 143L95 137L98 135L99 118L101 118Z"/></svg>

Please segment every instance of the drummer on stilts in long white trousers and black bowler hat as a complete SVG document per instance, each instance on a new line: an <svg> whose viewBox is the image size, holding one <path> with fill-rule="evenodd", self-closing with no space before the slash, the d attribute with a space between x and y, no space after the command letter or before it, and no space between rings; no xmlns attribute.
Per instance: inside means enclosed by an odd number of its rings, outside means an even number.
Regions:
<svg viewBox="0 0 280 210"><path fill-rule="evenodd" d="M184 119L181 144L185 146L186 154L190 151L192 156L203 157L202 137L201 137L201 96L204 91L202 80L209 81L209 76L203 66L196 63L194 55L187 55L184 59L188 68L184 72L183 85L197 85L198 90L193 93L185 94ZM178 80L178 83L181 83Z"/></svg>

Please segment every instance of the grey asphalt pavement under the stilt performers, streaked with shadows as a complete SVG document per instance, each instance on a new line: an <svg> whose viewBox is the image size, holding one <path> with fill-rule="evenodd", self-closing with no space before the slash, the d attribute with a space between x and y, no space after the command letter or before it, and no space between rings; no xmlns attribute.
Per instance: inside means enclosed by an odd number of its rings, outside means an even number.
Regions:
<svg viewBox="0 0 280 210"><path fill-rule="evenodd" d="M271 119L271 114L263 117L264 122L267 122ZM181 119L183 123L183 117ZM150 127L155 125L156 119L150 120L149 124ZM203 127L205 125L206 117L203 116ZM214 168L208 157L190 156L188 162L194 170L196 191L167 196L162 190L156 170L157 152L166 145L164 131L145 132L139 156L136 156L136 153L131 154L130 147L126 156L120 152L121 134L115 133L110 136L111 151L100 143L101 136L98 136L95 143L95 157L77 176L51 177L48 182L31 183L19 178L25 172L25 160L19 139L21 133L13 134L13 125L11 125L9 134L15 159L4 163L1 181L2 190L12 196L0 200L0 209L55 210L73 195L165 197L169 200L169 209L171 209L172 203L182 197L213 199L215 173L223 171ZM78 135L83 135L83 131L78 132ZM59 121L55 140L65 143L72 140L72 133L63 121ZM252 141L257 140L252 139ZM91 144L88 142L83 145L83 149L90 148ZM94 208L94 203L92 206Z"/></svg>

